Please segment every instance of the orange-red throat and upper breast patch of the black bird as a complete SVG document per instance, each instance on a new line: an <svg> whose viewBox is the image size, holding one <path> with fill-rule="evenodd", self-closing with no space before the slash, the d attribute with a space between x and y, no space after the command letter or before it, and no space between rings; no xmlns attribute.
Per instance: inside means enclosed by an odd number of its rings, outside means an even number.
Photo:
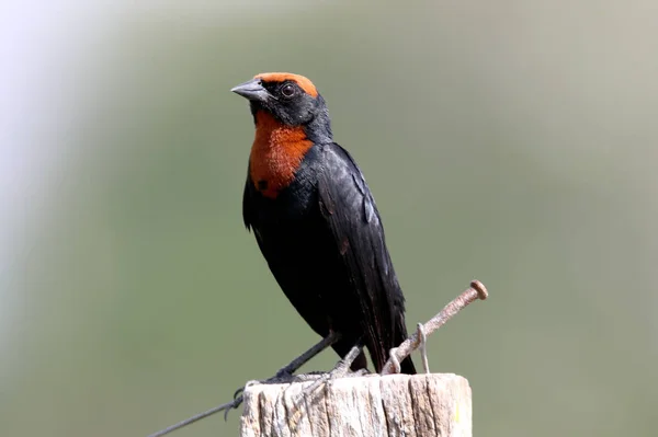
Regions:
<svg viewBox="0 0 658 437"><path fill-rule="evenodd" d="M263 196L275 198L295 179L313 147L300 126L286 126L270 113L256 114L256 138L249 157L249 176Z"/></svg>

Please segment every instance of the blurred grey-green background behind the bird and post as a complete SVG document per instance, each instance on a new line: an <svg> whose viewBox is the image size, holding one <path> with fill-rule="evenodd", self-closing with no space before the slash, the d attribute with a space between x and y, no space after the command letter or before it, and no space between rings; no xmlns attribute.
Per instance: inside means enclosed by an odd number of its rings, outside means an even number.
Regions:
<svg viewBox="0 0 658 437"><path fill-rule="evenodd" d="M477 436L651 436L655 2L5 0L0 435L145 436L317 341L242 226L228 90L311 78ZM307 369L327 369L326 353ZM179 432L237 435L239 413Z"/></svg>

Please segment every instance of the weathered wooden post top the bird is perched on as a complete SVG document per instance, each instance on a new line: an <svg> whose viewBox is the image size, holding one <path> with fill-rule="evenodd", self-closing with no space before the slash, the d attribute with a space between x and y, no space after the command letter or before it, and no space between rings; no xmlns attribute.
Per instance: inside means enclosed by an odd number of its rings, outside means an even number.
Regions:
<svg viewBox="0 0 658 437"><path fill-rule="evenodd" d="M453 373L256 384L245 390L241 437L472 437L470 387Z"/></svg>

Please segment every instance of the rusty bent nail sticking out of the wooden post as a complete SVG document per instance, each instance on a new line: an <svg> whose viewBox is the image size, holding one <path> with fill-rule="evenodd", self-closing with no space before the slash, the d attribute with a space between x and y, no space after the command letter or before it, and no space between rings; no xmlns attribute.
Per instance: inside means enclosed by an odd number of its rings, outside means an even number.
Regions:
<svg viewBox="0 0 658 437"><path fill-rule="evenodd" d="M445 322L452 319L457 312L463 310L468 303L478 299L485 300L488 296L489 294L487 292L487 288L484 286L484 284L477 279L473 280L470 283L470 288L462 292L452 302L443 307L439 314L434 315L423 325L422 331L424 332L424 336L432 334L439 327L443 326ZM417 331L409 338L405 340L401 345L390 349L390 357L384 365L381 375L396 373L396 368L397 372L399 372L399 363L411 355L411 353L416 350L421 343L421 335L419 335Z"/></svg>

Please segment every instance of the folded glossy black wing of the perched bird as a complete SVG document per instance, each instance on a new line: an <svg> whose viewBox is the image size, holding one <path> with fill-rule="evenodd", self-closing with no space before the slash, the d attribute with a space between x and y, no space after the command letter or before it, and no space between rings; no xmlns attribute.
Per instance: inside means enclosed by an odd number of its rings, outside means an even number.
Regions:
<svg viewBox="0 0 658 437"><path fill-rule="evenodd" d="M386 249L379 212L361 170L338 145L326 146L324 154L318 177L320 211L359 295L366 335L379 338L379 345L368 347L378 369L395 337L401 334L396 335L399 321L404 330L405 299Z"/></svg>

